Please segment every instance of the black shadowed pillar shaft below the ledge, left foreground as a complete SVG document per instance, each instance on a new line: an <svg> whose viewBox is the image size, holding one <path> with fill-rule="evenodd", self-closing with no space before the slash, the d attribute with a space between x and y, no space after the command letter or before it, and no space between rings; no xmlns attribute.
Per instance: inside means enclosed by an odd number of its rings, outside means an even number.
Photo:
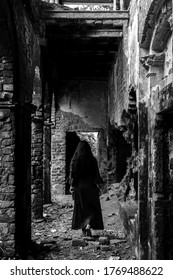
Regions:
<svg viewBox="0 0 173 280"><path fill-rule="evenodd" d="M16 253L27 257L31 243L31 113L30 103L16 108Z"/></svg>

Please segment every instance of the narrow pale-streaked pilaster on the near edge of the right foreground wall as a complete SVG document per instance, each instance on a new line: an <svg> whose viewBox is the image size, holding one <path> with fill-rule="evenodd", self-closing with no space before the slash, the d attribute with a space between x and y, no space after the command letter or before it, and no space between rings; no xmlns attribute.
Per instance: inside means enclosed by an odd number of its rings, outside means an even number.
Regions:
<svg viewBox="0 0 173 280"><path fill-rule="evenodd" d="M148 109L139 102L138 258L148 259Z"/></svg>

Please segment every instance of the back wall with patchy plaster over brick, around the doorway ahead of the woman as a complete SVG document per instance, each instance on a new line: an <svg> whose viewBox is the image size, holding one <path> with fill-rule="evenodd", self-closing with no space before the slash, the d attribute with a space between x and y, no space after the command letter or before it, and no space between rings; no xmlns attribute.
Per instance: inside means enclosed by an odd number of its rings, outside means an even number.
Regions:
<svg viewBox="0 0 173 280"><path fill-rule="evenodd" d="M66 132L98 132L102 154L99 168L107 176L107 84L105 82L66 82L55 93L55 127L52 129L52 193L64 193ZM99 136L98 136L99 139Z"/></svg>

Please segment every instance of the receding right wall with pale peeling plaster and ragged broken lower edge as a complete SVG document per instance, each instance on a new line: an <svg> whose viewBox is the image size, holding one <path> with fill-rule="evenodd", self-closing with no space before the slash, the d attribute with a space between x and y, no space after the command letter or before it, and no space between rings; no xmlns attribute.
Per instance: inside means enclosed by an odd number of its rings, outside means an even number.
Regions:
<svg viewBox="0 0 173 280"><path fill-rule="evenodd" d="M126 190L128 193L130 181L133 180L132 176L129 176L129 172L133 173L131 170L133 168L128 167L128 162L132 161L131 154L132 152L135 154L134 146L137 141L135 140L137 138L135 123L139 81L139 7L137 1L130 2L129 13L130 20L128 25L124 26L124 38L119 44L118 59L109 80L109 173L112 183L121 182L123 179L118 193L119 197L123 197ZM124 149L120 143L123 143ZM131 165L133 164L131 163Z"/></svg>

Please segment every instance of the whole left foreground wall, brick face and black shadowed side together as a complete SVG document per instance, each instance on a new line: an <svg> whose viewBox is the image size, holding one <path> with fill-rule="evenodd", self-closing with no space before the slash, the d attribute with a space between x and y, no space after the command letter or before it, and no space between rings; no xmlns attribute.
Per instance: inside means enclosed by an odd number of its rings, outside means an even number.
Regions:
<svg viewBox="0 0 173 280"><path fill-rule="evenodd" d="M25 255L31 240L30 103L39 46L24 4L0 3L0 246L10 256Z"/></svg>

